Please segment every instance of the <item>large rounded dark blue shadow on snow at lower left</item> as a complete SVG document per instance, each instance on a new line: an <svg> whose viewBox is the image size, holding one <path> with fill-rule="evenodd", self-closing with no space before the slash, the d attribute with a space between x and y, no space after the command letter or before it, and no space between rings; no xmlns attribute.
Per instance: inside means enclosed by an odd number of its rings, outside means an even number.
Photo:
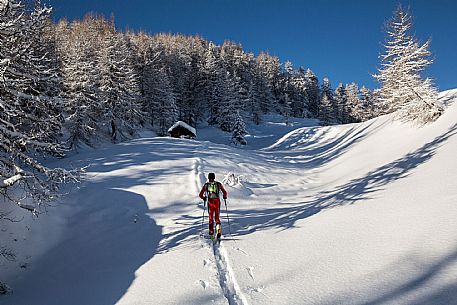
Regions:
<svg viewBox="0 0 457 305"><path fill-rule="evenodd" d="M98 184L77 193L84 202L69 198L75 212L65 238L24 271L3 304L115 304L155 255L162 229L143 196Z"/></svg>

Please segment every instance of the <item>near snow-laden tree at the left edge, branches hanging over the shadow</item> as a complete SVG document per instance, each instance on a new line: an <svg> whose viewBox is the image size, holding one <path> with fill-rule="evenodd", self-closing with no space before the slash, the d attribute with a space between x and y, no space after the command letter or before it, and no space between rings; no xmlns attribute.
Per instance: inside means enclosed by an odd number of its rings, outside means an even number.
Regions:
<svg viewBox="0 0 457 305"><path fill-rule="evenodd" d="M0 192L38 213L58 196L62 183L77 177L38 159L63 156L57 142L61 106L54 95L59 79L55 61L42 45L51 10L32 5L28 11L26 4L31 5L16 0L0 5Z"/></svg>

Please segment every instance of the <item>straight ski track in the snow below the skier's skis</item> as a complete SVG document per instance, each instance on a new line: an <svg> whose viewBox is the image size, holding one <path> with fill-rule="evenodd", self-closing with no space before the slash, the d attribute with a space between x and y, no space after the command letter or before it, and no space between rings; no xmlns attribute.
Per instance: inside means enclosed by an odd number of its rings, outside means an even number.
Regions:
<svg viewBox="0 0 457 305"><path fill-rule="evenodd" d="M249 305L246 297L241 292L240 286L234 276L227 251L222 245L212 245L214 260L216 262L219 284L229 305Z"/></svg>

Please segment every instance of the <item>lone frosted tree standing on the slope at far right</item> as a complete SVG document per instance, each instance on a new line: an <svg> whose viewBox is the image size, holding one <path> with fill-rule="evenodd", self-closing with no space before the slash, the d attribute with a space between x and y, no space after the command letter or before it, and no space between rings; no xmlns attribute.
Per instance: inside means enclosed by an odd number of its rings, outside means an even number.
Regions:
<svg viewBox="0 0 457 305"><path fill-rule="evenodd" d="M411 32L412 16L399 6L387 24L385 53L374 77L381 83L381 97L386 112L397 111L403 120L427 123L443 111L437 102L437 90L421 72L432 63L430 40L421 44Z"/></svg>

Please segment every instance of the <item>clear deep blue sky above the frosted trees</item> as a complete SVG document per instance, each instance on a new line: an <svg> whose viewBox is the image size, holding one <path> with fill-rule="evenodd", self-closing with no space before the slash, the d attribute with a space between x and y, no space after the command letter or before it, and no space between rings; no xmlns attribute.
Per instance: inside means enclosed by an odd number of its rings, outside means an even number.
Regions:
<svg viewBox="0 0 457 305"><path fill-rule="evenodd" d="M120 29L148 33L199 34L217 44L240 43L245 51L268 51L281 62L311 68L332 86L355 81L377 87L383 24L399 3L393 0L44 0L54 19L88 12L114 15ZM432 37L434 64L427 70L440 90L457 88L457 1L409 0L414 32Z"/></svg>

